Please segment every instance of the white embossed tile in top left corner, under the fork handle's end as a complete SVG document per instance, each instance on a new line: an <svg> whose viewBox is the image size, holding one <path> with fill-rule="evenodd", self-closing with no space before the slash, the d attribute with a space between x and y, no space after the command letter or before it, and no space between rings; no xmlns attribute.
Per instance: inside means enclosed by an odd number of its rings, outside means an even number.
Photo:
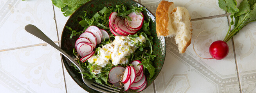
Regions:
<svg viewBox="0 0 256 93"><path fill-rule="evenodd" d="M34 24L51 40L57 41L50 0L1 0L0 6L0 33L4 33L0 37L0 50L43 43L25 32L27 24Z"/></svg>

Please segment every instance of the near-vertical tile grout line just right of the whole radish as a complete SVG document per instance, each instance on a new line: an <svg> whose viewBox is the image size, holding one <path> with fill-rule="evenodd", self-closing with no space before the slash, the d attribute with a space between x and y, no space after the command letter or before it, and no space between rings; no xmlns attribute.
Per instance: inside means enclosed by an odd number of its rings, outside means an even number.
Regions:
<svg viewBox="0 0 256 93"><path fill-rule="evenodd" d="M227 15L227 21L228 21L228 24L231 25L229 15ZM230 31L231 31L231 29L230 29ZM243 93L241 79L240 79L240 72L239 72L239 69L238 69L238 63L237 63L237 59L236 59L236 50L235 50L235 47L234 47L233 37L231 38L231 41L232 41L232 47L233 47L233 52L234 52L234 60L235 60L235 64L236 64L236 73L237 73L237 77L238 77L239 89L240 89L240 93Z"/></svg>

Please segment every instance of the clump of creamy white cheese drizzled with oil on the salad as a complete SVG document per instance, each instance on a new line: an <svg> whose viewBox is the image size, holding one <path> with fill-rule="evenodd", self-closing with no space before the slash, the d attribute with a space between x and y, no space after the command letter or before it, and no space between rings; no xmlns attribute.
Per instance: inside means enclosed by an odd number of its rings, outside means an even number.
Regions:
<svg viewBox="0 0 256 93"><path fill-rule="evenodd" d="M112 43L108 43L102 48L99 48L97 52L98 55L90 57L88 62L90 64L94 62L94 65L101 67L105 67L106 64L111 64L110 60L113 65L125 64L128 61L125 56L133 53L138 48L136 45L141 45L144 42L146 42L146 38L142 35L134 39L128 36L115 36L115 40Z"/></svg>

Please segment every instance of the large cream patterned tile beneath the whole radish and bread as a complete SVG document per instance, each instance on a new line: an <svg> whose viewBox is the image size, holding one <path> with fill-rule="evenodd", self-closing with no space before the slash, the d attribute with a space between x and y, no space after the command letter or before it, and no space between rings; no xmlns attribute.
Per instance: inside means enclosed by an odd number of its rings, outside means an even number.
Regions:
<svg viewBox="0 0 256 93"><path fill-rule="evenodd" d="M227 17L218 17L192 22L196 52L210 58L209 45L222 40L228 30ZM207 38L207 39L206 39ZM204 60L195 55L192 44L184 54L178 54L173 38L166 38L166 60L160 76L155 80L157 93L233 93L239 92L239 83L233 55L232 43L228 43L230 52L223 60ZM234 90L236 89L236 90ZM237 90L238 89L238 90Z"/></svg>

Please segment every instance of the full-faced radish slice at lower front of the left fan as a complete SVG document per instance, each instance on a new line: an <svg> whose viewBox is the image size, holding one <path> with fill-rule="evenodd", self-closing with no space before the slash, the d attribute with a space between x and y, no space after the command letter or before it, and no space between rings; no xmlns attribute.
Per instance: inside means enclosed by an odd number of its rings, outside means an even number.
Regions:
<svg viewBox="0 0 256 93"><path fill-rule="evenodd" d="M92 53L92 51L93 51L92 46L89 45L89 44L87 44L87 43L81 45L79 49L80 49L80 52L81 52L82 55L83 55L82 57L84 57L84 56L86 56L86 55Z"/></svg>

